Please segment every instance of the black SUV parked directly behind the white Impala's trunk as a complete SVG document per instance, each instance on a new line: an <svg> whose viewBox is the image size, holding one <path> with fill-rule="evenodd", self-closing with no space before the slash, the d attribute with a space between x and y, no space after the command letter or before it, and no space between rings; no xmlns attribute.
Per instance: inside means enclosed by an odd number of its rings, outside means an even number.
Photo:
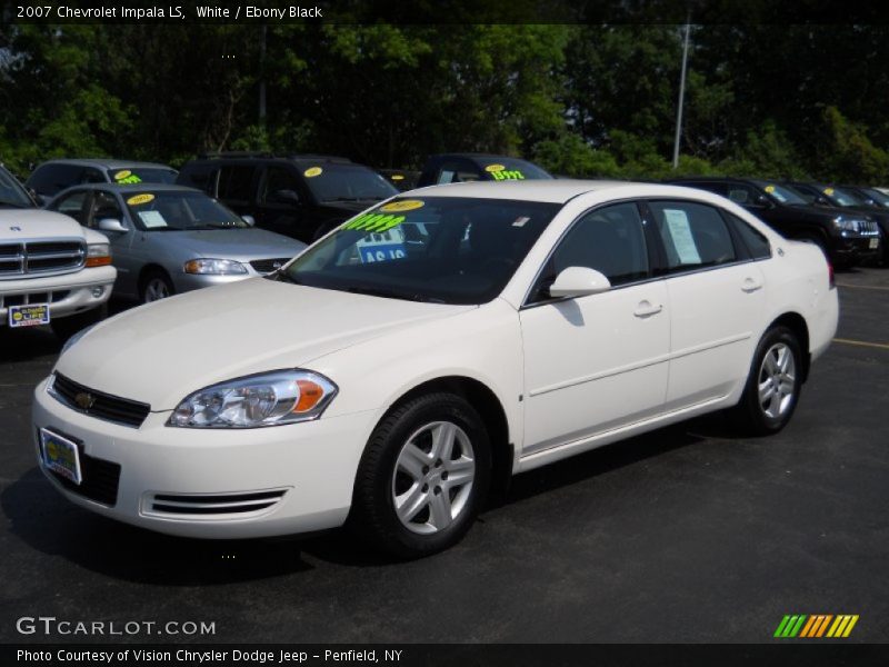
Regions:
<svg viewBox="0 0 889 667"><path fill-rule="evenodd" d="M840 208L811 206L796 191L773 181L688 177L666 182L722 195L783 236L816 243L836 267L876 260L882 250L880 231L873 219Z"/></svg>

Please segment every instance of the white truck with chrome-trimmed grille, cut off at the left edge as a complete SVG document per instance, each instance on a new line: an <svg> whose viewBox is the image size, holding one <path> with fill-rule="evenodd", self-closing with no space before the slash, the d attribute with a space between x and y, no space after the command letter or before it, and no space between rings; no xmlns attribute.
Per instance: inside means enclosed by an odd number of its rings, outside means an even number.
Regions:
<svg viewBox="0 0 889 667"><path fill-rule="evenodd" d="M103 235L38 209L0 166L0 328L48 323L67 339L104 317L116 278Z"/></svg>

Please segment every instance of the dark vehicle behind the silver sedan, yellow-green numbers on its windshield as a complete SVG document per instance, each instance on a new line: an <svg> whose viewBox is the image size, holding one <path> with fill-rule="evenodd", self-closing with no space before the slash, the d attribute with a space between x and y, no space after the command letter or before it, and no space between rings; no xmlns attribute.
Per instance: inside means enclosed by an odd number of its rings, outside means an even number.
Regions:
<svg viewBox="0 0 889 667"><path fill-rule="evenodd" d="M32 196L47 203L56 195L81 183L171 183L176 169L157 162L132 160L49 160L24 181Z"/></svg>

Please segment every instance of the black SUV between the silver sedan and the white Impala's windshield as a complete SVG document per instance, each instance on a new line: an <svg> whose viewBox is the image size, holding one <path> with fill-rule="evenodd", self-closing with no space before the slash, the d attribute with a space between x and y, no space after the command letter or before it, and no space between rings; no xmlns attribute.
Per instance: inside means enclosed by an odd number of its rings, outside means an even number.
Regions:
<svg viewBox="0 0 889 667"><path fill-rule="evenodd" d="M188 162L176 180L203 190L257 227L307 243L398 190L346 158L226 152Z"/></svg>

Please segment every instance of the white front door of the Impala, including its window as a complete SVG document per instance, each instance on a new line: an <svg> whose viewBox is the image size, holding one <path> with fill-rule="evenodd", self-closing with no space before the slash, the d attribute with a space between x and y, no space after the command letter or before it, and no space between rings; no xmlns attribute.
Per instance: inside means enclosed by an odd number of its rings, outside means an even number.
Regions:
<svg viewBox="0 0 889 667"><path fill-rule="evenodd" d="M520 311L522 456L656 416L668 379L670 305L650 271L635 202L595 209L560 241ZM568 267L605 273L609 291L566 300L547 288Z"/></svg>

